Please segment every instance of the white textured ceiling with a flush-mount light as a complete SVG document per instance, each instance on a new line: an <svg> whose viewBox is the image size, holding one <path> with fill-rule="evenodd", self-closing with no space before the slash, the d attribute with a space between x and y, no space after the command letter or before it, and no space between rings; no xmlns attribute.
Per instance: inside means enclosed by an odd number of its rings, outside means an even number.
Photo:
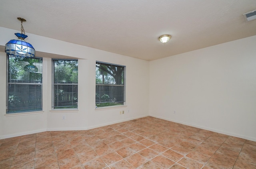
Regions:
<svg viewBox="0 0 256 169"><path fill-rule="evenodd" d="M0 0L0 26L20 30L22 17L27 33L152 61L256 35L252 10L256 0Z"/></svg>

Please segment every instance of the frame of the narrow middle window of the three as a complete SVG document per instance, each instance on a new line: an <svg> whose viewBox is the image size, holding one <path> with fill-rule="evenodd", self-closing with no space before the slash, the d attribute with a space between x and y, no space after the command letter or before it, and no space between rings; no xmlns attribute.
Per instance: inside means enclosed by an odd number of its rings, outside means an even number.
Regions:
<svg viewBox="0 0 256 169"><path fill-rule="evenodd" d="M77 64L78 64L78 59L52 59L52 103L51 103L51 107L52 107L52 110L78 110L78 81L77 83L55 83L55 62L54 61L77 61ZM78 68L78 66L77 66ZM78 69L77 69L77 73L78 73ZM78 75L77 75L78 76ZM78 78L78 77L77 77ZM59 86L59 85L66 85L66 86L76 86L77 88L77 103L76 103L76 106L70 106L70 108L66 108L68 107L67 105L66 106L55 106L55 86ZM61 108L62 107L62 108Z"/></svg>

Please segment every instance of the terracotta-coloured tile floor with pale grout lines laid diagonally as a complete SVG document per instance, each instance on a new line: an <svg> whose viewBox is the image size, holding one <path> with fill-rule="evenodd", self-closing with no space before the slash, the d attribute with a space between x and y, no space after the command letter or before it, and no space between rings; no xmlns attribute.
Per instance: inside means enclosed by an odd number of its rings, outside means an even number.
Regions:
<svg viewBox="0 0 256 169"><path fill-rule="evenodd" d="M2 139L0 169L256 169L256 142L148 116Z"/></svg>

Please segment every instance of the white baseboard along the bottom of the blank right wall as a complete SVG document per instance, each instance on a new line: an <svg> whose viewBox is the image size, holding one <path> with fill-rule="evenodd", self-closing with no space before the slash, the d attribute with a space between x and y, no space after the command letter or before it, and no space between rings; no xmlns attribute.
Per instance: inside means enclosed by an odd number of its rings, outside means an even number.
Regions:
<svg viewBox="0 0 256 169"><path fill-rule="evenodd" d="M248 136L244 136L244 135L240 135L240 134L230 133L230 132L226 132L226 131L222 131L222 130L217 130L217 129L214 129L214 128L207 128L207 127L204 127L204 126L198 126L198 125L194 125L194 124L190 124L190 123L186 123L186 122L181 122L181 121L178 121L178 120L163 118L163 117L160 117L160 116L153 116L153 115L149 115L149 116L155 117L155 118L160 118L162 120L167 120L167 121L170 121L170 122L184 124L184 125L187 125L187 126L192 126L192 127L195 127L195 128L209 130L209 131L220 133L220 134L226 134L228 136L234 136L234 137L237 137L237 138L243 138L243 139L246 139L246 140L256 141L256 138L252 138L252 137L248 137Z"/></svg>

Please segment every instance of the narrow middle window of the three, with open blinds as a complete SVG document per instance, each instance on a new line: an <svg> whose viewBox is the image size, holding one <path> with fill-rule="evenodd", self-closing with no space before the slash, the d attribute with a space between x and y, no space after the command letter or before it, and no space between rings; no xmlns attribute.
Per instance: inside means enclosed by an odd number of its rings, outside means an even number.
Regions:
<svg viewBox="0 0 256 169"><path fill-rule="evenodd" d="M52 59L52 108L78 108L77 59Z"/></svg>

